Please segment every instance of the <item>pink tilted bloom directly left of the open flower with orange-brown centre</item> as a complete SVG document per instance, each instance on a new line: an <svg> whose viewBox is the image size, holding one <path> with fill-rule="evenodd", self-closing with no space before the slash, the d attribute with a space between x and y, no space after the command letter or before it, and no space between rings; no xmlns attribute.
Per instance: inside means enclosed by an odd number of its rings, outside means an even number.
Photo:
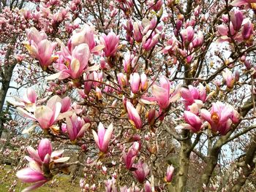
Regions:
<svg viewBox="0 0 256 192"><path fill-rule="evenodd" d="M184 119L186 123L183 123L181 126L184 128L190 129L192 132L196 133L201 130L203 123L202 120L195 115L193 112L185 111Z"/></svg>

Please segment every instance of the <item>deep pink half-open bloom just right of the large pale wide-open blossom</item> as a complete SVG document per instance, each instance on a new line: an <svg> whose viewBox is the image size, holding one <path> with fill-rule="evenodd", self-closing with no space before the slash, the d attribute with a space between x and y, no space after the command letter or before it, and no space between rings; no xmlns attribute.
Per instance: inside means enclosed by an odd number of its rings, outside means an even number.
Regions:
<svg viewBox="0 0 256 192"><path fill-rule="evenodd" d="M89 128L90 123L86 123L82 118L78 117L75 113L69 118L66 118L67 133L69 139L74 142L76 139L83 137L84 132Z"/></svg>

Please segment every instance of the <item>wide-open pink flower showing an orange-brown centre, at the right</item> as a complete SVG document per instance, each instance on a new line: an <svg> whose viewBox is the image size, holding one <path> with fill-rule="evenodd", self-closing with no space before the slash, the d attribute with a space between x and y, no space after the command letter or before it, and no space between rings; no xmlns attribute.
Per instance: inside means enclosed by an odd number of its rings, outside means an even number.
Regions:
<svg viewBox="0 0 256 192"><path fill-rule="evenodd" d="M233 123L234 109L230 105L217 101L212 104L211 111L201 110L201 118L206 120L211 126L211 131L222 135L230 131Z"/></svg>

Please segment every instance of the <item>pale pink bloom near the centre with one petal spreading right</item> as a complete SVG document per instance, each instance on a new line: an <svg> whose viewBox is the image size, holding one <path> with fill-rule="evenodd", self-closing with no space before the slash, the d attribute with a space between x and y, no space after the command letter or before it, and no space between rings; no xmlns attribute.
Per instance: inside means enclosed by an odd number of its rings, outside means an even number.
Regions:
<svg viewBox="0 0 256 192"><path fill-rule="evenodd" d="M153 85L152 93L154 96L154 100L157 101L159 107L162 110L167 109L169 107L170 102L176 101L178 99L178 90L172 91L170 90L170 81L165 76L160 77L160 86Z"/></svg>

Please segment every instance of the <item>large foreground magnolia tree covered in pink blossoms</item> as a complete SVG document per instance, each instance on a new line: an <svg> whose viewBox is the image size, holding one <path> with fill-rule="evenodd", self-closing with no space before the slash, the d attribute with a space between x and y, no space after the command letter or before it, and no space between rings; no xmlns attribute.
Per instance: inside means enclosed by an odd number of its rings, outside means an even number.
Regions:
<svg viewBox="0 0 256 192"><path fill-rule="evenodd" d="M43 137L25 191L72 165L82 191L255 190L256 1L33 3L22 60L47 85L15 102Z"/></svg>

